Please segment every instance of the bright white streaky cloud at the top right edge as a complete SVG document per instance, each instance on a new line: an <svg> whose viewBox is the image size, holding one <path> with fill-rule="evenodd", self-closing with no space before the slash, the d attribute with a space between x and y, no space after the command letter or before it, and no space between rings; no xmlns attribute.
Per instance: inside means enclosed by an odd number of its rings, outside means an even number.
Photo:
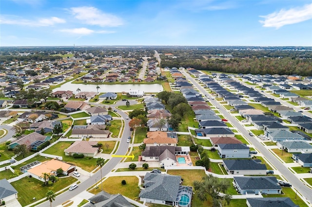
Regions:
<svg viewBox="0 0 312 207"><path fill-rule="evenodd" d="M295 24L301 21L312 19L312 4L304 5L303 7L296 7L289 10L280 10L263 17L264 20L259 22L263 27L275 27L276 29L288 25Z"/></svg>

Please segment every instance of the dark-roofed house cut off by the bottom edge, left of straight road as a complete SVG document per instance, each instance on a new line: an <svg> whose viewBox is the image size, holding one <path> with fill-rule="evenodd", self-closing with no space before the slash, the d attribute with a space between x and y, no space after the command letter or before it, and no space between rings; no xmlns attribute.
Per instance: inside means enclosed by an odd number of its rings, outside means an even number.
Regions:
<svg viewBox="0 0 312 207"><path fill-rule="evenodd" d="M247 207L299 207L288 197L247 198Z"/></svg>

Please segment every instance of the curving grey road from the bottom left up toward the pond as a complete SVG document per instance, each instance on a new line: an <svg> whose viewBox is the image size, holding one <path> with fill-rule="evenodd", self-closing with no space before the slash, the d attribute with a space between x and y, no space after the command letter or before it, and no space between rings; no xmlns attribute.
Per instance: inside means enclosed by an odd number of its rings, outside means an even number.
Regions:
<svg viewBox="0 0 312 207"><path fill-rule="evenodd" d="M131 100L129 100L130 102ZM118 104L122 104L123 102L119 102ZM131 103L131 102L130 102ZM99 106L103 106L103 104L94 104L93 105L99 105ZM112 105L113 106L113 105ZM126 120L126 117L128 117L128 115L116 108L114 108L114 110L117 111L117 113L124 119L125 121L125 125L124 125L124 131L120 140L120 144L118 147L117 152L115 153L115 155L125 155L128 152L128 148L129 148L129 143L127 143L127 138L131 135L131 131L130 131L130 127L129 127L129 121L130 120ZM102 171L102 177L105 177L106 174L110 173L113 168L121 161L121 157L112 157L112 159L110 159L101 169ZM78 184L78 188L72 191L67 190L64 193L61 193L60 195L58 195L55 198L55 201L53 201L52 205L53 206L58 206L61 205L62 203L64 203L65 201L70 200L71 198L75 197L76 195L78 195L80 192L82 192L83 190L88 189L89 187L93 186L94 184L96 184L96 182L99 184L99 180L101 179L101 173L100 171L98 171L97 173L95 173L93 176L91 176L90 178L88 178L87 180L83 181L82 183ZM38 207L50 207L50 202L46 201L42 204L39 204Z"/></svg>

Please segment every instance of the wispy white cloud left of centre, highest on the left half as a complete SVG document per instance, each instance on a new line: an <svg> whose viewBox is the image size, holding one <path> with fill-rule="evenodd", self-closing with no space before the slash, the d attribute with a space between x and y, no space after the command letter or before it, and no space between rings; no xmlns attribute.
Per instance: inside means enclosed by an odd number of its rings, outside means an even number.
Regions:
<svg viewBox="0 0 312 207"><path fill-rule="evenodd" d="M95 7L72 7L69 10L75 18L81 20L84 24L98 25L101 27L117 27L123 24L121 18L111 14L105 14Z"/></svg>

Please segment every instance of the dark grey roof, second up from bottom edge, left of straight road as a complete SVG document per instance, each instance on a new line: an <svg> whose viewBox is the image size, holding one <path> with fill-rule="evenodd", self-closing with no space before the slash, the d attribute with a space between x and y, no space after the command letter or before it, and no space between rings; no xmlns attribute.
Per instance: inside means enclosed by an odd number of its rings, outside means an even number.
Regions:
<svg viewBox="0 0 312 207"><path fill-rule="evenodd" d="M273 176L234 177L241 190L281 190Z"/></svg>

